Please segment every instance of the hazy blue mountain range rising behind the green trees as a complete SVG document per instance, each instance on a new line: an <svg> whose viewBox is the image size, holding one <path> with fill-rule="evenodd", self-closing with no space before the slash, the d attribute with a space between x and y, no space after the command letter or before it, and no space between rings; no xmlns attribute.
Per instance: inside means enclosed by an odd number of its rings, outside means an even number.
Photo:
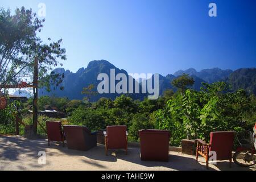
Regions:
<svg viewBox="0 0 256 182"><path fill-rule="evenodd" d="M113 64L109 63L106 60L94 60L90 61L86 68L80 68L76 73L72 73L69 70L64 68L56 68L53 70L55 73L64 73L65 77L62 83L64 90L53 90L47 92L45 89L39 89L39 96L56 96L56 97L68 97L69 99L81 100L84 95L81 94L82 88L88 86L89 84L97 85L100 81L97 80L99 73L106 73L110 77L110 69L115 70L115 75L118 73L124 73L128 77L128 73L124 69L119 69ZM187 70L179 70L174 73L174 75L168 74L167 76L159 75L159 93L163 94L166 89L173 89L176 91L176 88L171 85L171 81L182 75L183 73L188 74L193 77L195 84L192 86L193 89L199 90L201 87L201 82L216 82L216 81L227 81L232 84L233 89L243 88L247 92L256 94L256 68L242 68L232 71L231 69L203 69L197 72L195 69L190 68ZM154 77L154 76L153 76ZM128 81L129 79L127 79ZM135 82L135 80L133 80ZM115 81L117 84L119 81ZM127 83L127 88L129 81ZM14 94L18 94L17 92ZM100 97L109 97L114 99L120 94L97 94L92 98L92 101L98 100ZM134 99L142 100L146 94L130 94Z"/></svg>

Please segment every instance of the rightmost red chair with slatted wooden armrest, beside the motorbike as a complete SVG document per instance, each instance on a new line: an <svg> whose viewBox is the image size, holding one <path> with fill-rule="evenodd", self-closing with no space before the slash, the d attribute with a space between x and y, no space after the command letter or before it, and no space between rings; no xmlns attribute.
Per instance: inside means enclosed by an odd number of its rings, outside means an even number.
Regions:
<svg viewBox="0 0 256 182"><path fill-rule="evenodd" d="M210 133L210 143L206 143L201 139L196 139L196 160L199 154L203 156L209 166L209 152L216 152L216 160L229 160L229 165L232 164L232 148L234 144L233 131L216 131Z"/></svg>

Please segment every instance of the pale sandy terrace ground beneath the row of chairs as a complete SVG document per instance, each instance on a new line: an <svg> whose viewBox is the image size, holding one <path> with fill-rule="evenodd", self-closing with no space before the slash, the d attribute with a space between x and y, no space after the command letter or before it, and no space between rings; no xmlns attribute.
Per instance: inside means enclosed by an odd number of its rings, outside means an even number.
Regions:
<svg viewBox="0 0 256 182"><path fill-rule="evenodd" d="M38 152L46 151L46 165L38 164ZM111 154L112 152L112 154ZM28 140L20 136L0 136L0 170L207 170L204 158L196 162L195 156L170 151L169 162L150 162L140 159L140 149L129 147L128 155L122 150L109 151L105 155L104 146L89 151L69 150L61 143L46 139ZM209 170L256 170L244 168L228 161L209 164Z"/></svg>

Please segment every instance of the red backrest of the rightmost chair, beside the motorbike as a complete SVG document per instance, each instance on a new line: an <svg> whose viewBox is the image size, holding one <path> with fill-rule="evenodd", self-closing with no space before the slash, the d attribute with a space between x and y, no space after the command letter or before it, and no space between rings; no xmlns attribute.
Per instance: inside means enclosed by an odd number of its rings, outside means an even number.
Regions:
<svg viewBox="0 0 256 182"><path fill-rule="evenodd" d="M210 133L209 151L215 151L217 160L232 158L232 148L234 144L233 131L216 131Z"/></svg>

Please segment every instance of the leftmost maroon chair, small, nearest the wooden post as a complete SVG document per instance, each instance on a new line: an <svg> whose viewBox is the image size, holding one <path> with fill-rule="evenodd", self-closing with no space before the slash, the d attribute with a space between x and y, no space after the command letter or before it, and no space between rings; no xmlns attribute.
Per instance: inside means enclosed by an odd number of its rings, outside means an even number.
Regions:
<svg viewBox="0 0 256 182"><path fill-rule="evenodd" d="M48 146L50 141L63 142L64 147L64 134L61 129L60 121L47 121L46 122Z"/></svg>

